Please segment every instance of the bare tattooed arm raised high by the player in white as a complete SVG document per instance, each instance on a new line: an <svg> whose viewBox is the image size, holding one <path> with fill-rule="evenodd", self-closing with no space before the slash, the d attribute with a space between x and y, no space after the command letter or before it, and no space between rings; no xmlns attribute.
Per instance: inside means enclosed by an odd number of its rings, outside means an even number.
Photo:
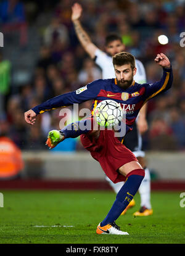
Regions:
<svg viewBox="0 0 185 256"><path fill-rule="evenodd" d="M94 59L95 52L98 49L91 41L91 38L89 38L88 33L84 31L84 28L81 25L80 17L82 13L82 7L77 2L73 4L72 6L72 22L75 27L76 35L78 36L78 39L83 46L84 50L89 54L89 56Z"/></svg>

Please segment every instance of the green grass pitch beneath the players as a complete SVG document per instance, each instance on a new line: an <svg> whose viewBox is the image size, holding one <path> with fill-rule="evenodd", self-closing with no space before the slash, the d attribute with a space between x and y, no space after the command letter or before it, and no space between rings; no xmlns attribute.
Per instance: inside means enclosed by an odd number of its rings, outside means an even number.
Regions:
<svg viewBox="0 0 185 256"><path fill-rule="evenodd" d="M152 192L154 215L133 217L136 206L117 224L130 236L97 235L96 227L109 212L112 191L1 191L1 244L173 244L185 242L185 207L181 192ZM35 227L44 226L44 227ZM55 226L55 227L52 227ZM71 227L69 227L71 226Z"/></svg>

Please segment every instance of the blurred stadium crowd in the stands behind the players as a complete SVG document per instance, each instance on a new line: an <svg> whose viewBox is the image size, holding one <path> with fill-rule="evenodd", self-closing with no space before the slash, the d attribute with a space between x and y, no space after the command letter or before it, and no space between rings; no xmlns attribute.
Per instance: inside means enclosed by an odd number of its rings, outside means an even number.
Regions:
<svg viewBox="0 0 185 256"><path fill-rule="evenodd" d="M20 149L47 150L49 130L59 129L59 110L38 116L28 126L23 112L47 99L80 88L101 78L101 70L80 46L71 21L74 1L1 1L0 31L4 47L0 56L0 133L6 133ZM173 65L173 88L149 101L146 150L185 149L185 47L179 44L185 28L185 1L85 0L81 22L92 41L104 50L105 36L117 33L146 68L147 81L160 79L154 63L158 52ZM158 43L167 35L168 44ZM17 42L17 43L16 43ZM81 104L89 107L91 102ZM82 149L78 139L61 150Z"/></svg>

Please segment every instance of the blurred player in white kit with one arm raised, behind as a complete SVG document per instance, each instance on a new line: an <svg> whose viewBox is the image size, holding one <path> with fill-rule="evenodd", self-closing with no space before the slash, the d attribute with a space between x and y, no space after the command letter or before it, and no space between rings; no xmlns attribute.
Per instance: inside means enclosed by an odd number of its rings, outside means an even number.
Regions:
<svg viewBox="0 0 185 256"><path fill-rule="evenodd" d="M112 64L112 56L117 54L118 52L122 52L125 50L124 44L121 42L121 38L117 35L107 36L105 39L105 52L101 51L97 46L95 46L91 39L89 38L86 31L84 31L81 26L80 17L81 17L82 7L80 4L75 3L72 6L72 22L75 27L76 35L83 46L84 50L89 54L91 59L95 61L99 67L102 69L102 78L115 78L115 71ZM146 72L142 62L136 59L136 68L137 72L134 76L134 80L137 83L146 83ZM150 204L150 173L148 168L146 168L146 161L144 159L145 153L142 151L142 138L141 134L147 130L147 121L146 121L146 109L147 105L145 104L139 112L137 125L133 127L133 131L128 133L123 141L128 149L130 149L134 155L137 157L139 163L142 168L145 170L145 177L142 180L141 186L139 188L139 194L141 197L141 208L138 212L135 212L135 216L148 216L152 215L153 210ZM123 182L114 184L112 181L106 177L106 180L109 181L110 186L112 186L113 190L118 193L121 187L123 186ZM133 207L135 205L134 200L128 205L127 209L123 211L121 214L125 214L128 208Z"/></svg>

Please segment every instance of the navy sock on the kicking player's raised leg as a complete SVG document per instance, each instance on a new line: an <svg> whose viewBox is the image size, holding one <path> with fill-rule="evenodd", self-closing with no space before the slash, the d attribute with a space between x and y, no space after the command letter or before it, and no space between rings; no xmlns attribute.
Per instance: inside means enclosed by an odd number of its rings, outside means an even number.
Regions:
<svg viewBox="0 0 185 256"><path fill-rule="evenodd" d="M92 122L93 118L88 118L85 120L77 121L70 123L69 125L65 126L64 129L60 130L67 138L76 138L81 134L86 134L92 130Z"/></svg>

